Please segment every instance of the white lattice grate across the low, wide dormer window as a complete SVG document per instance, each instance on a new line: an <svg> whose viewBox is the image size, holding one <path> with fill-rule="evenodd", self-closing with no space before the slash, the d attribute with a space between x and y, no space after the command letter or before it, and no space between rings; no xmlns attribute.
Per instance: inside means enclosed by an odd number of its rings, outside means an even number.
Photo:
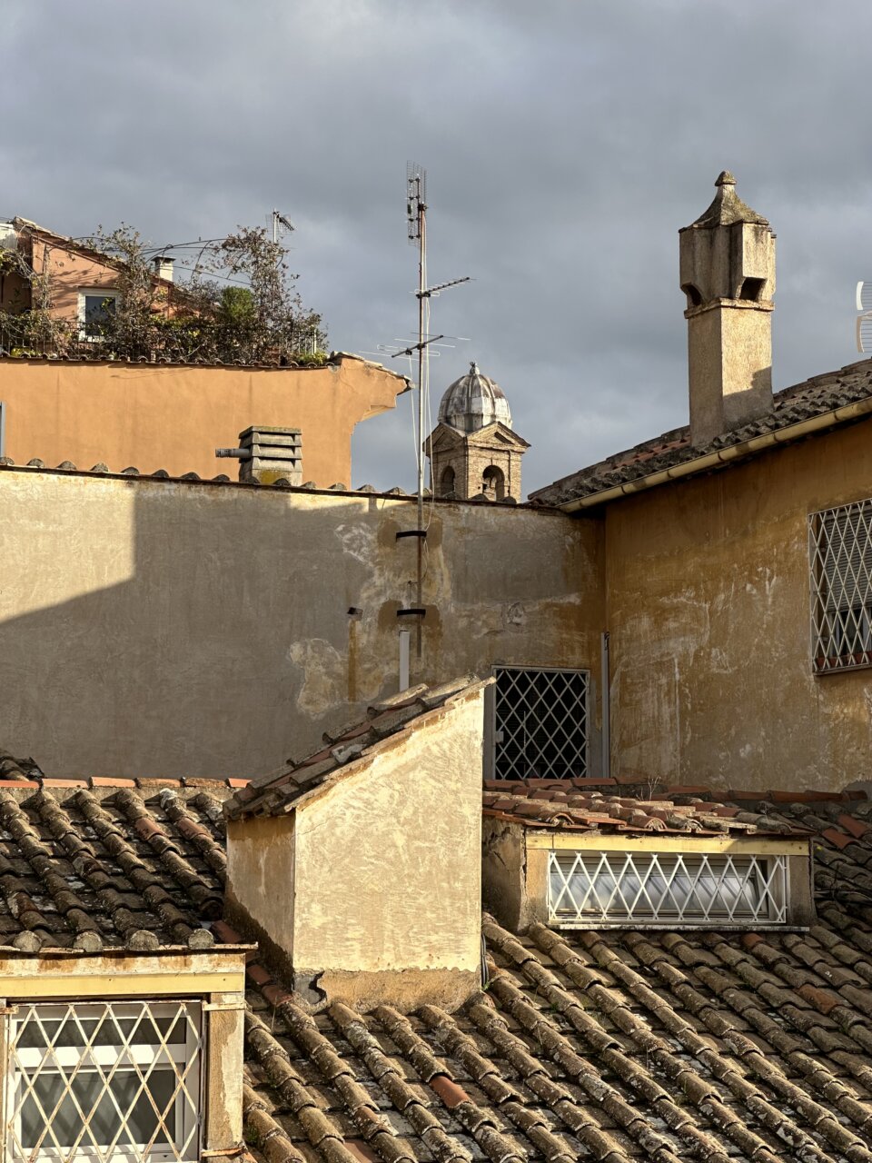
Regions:
<svg viewBox="0 0 872 1163"><path fill-rule="evenodd" d="M780 925L787 915L784 856L552 850L548 871L557 925Z"/></svg>

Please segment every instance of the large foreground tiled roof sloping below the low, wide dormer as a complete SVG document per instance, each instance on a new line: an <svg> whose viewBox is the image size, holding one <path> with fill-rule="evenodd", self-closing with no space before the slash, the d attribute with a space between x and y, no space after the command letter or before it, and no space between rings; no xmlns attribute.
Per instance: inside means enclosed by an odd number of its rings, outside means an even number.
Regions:
<svg viewBox="0 0 872 1163"><path fill-rule="evenodd" d="M842 820L820 837L808 933L519 939L486 915L489 982L455 1014L312 1015L251 964L249 1142L269 1163L871 1163L872 894L825 873L872 866L872 805L796 800L756 802Z"/></svg>

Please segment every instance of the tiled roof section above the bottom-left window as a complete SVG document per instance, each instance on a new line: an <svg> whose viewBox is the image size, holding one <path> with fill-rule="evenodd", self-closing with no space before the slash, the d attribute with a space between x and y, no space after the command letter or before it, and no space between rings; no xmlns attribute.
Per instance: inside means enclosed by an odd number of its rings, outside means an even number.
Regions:
<svg viewBox="0 0 872 1163"><path fill-rule="evenodd" d="M47 779L0 754L0 948L214 946L230 787L191 784Z"/></svg>

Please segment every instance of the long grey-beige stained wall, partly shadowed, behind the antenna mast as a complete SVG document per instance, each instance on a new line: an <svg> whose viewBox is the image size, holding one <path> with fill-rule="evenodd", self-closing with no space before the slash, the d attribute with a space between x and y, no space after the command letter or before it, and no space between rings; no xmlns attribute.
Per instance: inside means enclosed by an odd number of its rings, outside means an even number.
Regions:
<svg viewBox="0 0 872 1163"><path fill-rule="evenodd" d="M276 768L396 690L414 526L412 499L0 466L0 747L57 776ZM435 504L413 682L595 677L600 540L594 518Z"/></svg>

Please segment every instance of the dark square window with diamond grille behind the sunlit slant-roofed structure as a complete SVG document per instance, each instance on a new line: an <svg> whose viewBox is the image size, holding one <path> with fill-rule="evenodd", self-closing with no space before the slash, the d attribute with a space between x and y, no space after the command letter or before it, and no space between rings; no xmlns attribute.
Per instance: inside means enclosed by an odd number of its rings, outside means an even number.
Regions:
<svg viewBox="0 0 872 1163"><path fill-rule="evenodd" d="M495 778L584 778L587 671L498 666L494 673Z"/></svg>

